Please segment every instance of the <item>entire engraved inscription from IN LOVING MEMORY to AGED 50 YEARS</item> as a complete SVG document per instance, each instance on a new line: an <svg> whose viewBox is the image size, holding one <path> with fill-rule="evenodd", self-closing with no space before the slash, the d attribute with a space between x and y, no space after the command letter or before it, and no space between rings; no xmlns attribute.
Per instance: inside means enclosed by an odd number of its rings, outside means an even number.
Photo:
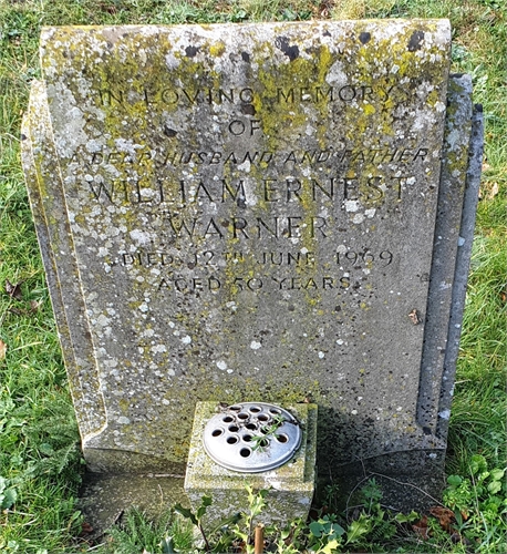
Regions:
<svg viewBox="0 0 507 554"><path fill-rule="evenodd" d="M355 142L343 136L333 144L320 141L313 148L270 142L262 106L278 105L290 114L318 104L335 117L369 103L389 103L391 110L395 94L394 84L358 82L302 82L270 89L263 96L254 85L161 82L141 92L103 88L99 103L114 112L143 104L147 113L167 110L158 120L159 141L124 150L110 142L72 160L86 167L83 186L91 204L135 211L157 222L157 246L153 240L151 247L127 242L112 265L136 278L155 271L161 294L301 291L354 297L371 290L375 276L394 274L401 250L346 237L354 225L375 233L384 217L403 212L415 188L423 183L432 188L423 175L435 152L414 140L375 146L368 137ZM215 114L214 130L224 147L207 143L199 148L186 142L185 127L170 115L176 109L182 114ZM368 278L372 280L366 286Z"/></svg>

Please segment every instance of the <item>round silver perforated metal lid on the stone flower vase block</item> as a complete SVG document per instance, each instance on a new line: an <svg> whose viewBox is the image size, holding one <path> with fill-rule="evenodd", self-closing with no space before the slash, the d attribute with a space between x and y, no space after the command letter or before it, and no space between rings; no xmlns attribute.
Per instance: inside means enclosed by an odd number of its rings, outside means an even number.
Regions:
<svg viewBox="0 0 507 554"><path fill-rule="evenodd" d="M298 420L265 402L223 408L204 430L204 447L219 465L244 473L272 470L290 460L301 443Z"/></svg>

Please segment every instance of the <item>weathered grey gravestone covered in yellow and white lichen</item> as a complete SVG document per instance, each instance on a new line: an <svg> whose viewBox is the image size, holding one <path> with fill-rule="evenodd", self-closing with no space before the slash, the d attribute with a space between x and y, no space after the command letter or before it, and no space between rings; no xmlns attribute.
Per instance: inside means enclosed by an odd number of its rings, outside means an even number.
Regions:
<svg viewBox="0 0 507 554"><path fill-rule="evenodd" d="M183 475L198 400L313 401L322 478L433 502L478 175L449 50L445 20L42 32L24 167L92 471Z"/></svg>

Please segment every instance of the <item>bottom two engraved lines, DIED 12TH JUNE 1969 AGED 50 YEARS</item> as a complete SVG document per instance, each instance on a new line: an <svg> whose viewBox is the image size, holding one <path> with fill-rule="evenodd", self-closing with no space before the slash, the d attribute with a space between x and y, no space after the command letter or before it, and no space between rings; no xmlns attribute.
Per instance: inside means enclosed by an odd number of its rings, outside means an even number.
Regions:
<svg viewBox="0 0 507 554"><path fill-rule="evenodd" d="M328 269L319 268L315 255L306 249L299 252L267 250L258 253L203 250L195 254L173 254L165 250L132 249L121 253L116 264L125 269L161 267L165 270L157 290L188 293L217 293L224 287L234 291L262 293L273 290L290 291L329 291L345 294L356 293L361 288L360 280L353 279L350 270L363 270L370 274L376 267L385 268L393 263L391 250L374 253L370 248L361 252L348 249L345 245L338 247L334 261ZM241 266L252 261L257 275L241 275ZM228 275L221 267L231 265ZM334 267L332 267L334 264ZM251 265L249 267L252 267ZM315 270L319 270L315 274ZM188 273L190 270L190 274ZM208 273L211 271L211 273ZM205 271L205 273L203 273ZM280 273L282 271L282 273ZM337 273L338 271L338 273ZM308 275L304 275L308 273Z"/></svg>

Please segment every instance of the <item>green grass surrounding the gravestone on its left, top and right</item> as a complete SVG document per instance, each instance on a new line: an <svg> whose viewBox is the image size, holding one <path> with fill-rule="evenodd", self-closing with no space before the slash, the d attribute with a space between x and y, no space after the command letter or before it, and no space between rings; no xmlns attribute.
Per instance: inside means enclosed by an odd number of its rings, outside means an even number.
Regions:
<svg viewBox="0 0 507 554"><path fill-rule="evenodd" d="M15 497L12 504L4 499L3 507L9 509L0 511L0 551L141 553L149 544L157 552L164 531L172 525L168 520L152 524L133 513L112 531L103 546L92 550L77 538L82 520L74 499L83 468L79 434L19 148L20 121L30 82L39 75L41 25L330 17L452 20L453 71L473 76L475 101L484 104L486 157L447 469L449 474L470 479L477 454L485 458L489 470L506 466L507 7L503 0L0 0L0 340L7 345L6 357L0 360L0 499L2 491L9 491L11 500ZM17 298L4 290L6 279L21 284ZM476 481L475 478L472 482L477 485ZM463 491L461 494L468 497ZM477 499L468 502L478 514L493 510L487 506L487 499ZM479 525L479 516L477 521ZM408 525L406 541L397 543L396 547L404 548L400 552L465 552L466 546L453 544L435 520L430 525L434 533L432 544L414 537ZM489 541L482 552L499 553L494 538L503 531L493 529L493 535L490 531L490 526L480 527L484 541ZM175 532L182 537L186 533L184 529ZM384 542L387 544L385 537ZM382 547L379 542L376 546L374 542L369 544L362 547Z"/></svg>

